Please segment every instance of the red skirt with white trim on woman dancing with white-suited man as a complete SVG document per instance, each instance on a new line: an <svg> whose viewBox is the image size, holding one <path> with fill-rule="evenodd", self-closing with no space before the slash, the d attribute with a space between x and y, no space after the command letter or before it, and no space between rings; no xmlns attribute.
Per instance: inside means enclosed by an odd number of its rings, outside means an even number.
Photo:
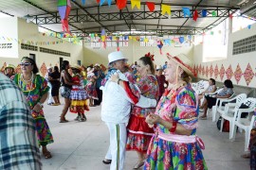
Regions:
<svg viewBox="0 0 256 170"><path fill-rule="evenodd" d="M146 153L154 135L154 129L148 126L144 117L137 117L134 114L131 115L127 129L126 150Z"/></svg>

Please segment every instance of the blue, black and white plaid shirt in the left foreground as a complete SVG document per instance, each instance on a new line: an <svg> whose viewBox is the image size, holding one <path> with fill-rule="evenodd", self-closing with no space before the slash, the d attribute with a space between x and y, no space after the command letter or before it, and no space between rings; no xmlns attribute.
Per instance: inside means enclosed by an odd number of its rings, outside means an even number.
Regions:
<svg viewBox="0 0 256 170"><path fill-rule="evenodd" d="M3 74L0 74L0 122L0 169L42 169L35 123L26 98Z"/></svg>

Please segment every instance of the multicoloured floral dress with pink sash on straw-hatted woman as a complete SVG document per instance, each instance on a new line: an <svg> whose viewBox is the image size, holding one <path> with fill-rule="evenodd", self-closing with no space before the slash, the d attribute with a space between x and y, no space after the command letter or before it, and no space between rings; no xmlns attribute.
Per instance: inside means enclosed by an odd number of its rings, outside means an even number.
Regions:
<svg viewBox="0 0 256 170"><path fill-rule="evenodd" d="M156 107L155 114L158 114L165 121L175 121L187 129L192 129L192 134L191 136L177 135L171 133L168 128L157 124L155 136L152 138L147 152L144 170L208 169L200 148L200 146L202 147L200 140L192 143L178 143L160 138L160 134L167 136L166 139L170 139L172 136L177 137L177 139L193 136L194 139L197 138L195 133L198 120L198 102L191 85L188 84L177 90L166 90Z"/></svg>

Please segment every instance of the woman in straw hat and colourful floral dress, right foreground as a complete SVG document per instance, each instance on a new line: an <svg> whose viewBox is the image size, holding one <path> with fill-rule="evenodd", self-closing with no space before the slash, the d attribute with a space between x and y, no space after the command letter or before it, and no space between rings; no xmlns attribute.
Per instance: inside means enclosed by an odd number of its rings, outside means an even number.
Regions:
<svg viewBox="0 0 256 170"><path fill-rule="evenodd" d="M163 93L155 113L146 122L155 127L147 152L144 169L207 169L201 148L202 141L195 135L198 117L197 95L190 84L192 63L186 56L168 54L164 70L169 88Z"/></svg>

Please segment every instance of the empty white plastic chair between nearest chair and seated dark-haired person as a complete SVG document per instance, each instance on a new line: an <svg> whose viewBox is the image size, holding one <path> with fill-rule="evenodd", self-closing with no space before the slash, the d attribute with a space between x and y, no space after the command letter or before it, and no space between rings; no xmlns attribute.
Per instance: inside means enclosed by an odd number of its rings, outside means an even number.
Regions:
<svg viewBox="0 0 256 170"><path fill-rule="evenodd" d="M226 112L229 112L229 110L233 110L235 108L235 106L240 106L241 103L247 98L247 94L246 93L240 93L238 95L236 95L233 98L227 99L227 98L220 98L220 104L217 107L216 112L212 111L212 122L216 121L216 117L217 114L219 113L220 116L222 116L222 114L225 114ZM235 101L235 102L233 102ZM229 103L229 107L225 107L222 106L223 103Z"/></svg>

